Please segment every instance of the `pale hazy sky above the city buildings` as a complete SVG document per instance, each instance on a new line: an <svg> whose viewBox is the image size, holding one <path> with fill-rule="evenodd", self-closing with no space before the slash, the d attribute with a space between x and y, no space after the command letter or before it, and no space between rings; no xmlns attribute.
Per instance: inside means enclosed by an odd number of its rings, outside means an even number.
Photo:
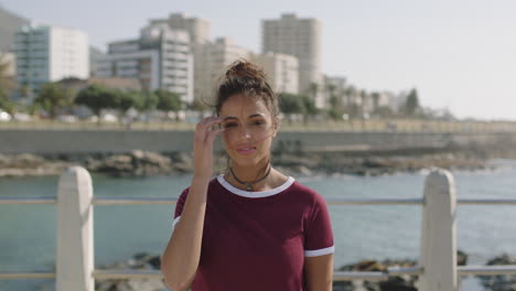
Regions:
<svg viewBox="0 0 516 291"><path fill-rule="evenodd" d="M135 39L149 19L183 12L261 51L261 20L322 23L322 72L366 90L416 88L420 103L459 118L516 120L513 0L0 0L22 17L83 30L92 45Z"/></svg>

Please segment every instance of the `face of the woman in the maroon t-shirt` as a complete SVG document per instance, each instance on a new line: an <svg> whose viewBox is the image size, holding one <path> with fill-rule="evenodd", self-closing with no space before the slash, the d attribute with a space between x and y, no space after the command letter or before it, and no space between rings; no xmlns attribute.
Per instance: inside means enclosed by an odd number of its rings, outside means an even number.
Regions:
<svg viewBox="0 0 516 291"><path fill-rule="evenodd" d="M270 110L259 97L233 95L221 107L226 152L234 164L257 165L270 155L277 127Z"/></svg>

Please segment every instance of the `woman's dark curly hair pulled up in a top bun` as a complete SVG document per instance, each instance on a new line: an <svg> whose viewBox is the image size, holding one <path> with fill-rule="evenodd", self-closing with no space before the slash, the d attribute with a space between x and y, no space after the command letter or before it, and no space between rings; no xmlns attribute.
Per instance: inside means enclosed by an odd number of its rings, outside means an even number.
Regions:
<svg viewBox="0 0 516 291"><path fill-rule="evenodd" d="M246 60L238 60L230 64L222 77L215 98L217 116L224 103L236 94L262 99L270 110L272 121L276 122L279 115L278 97L267 82L264 71Z"/></svg>

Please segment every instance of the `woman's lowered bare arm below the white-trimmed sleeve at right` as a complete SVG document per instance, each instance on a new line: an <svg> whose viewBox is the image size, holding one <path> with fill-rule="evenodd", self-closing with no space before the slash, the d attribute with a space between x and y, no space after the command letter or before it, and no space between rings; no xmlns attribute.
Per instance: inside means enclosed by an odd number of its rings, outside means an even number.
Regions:
<svg viewBox="0 0 516 291"><path fill-rule="evenodd" d="M308 291L332 291L333 254L305 257L304 277Z"/></svg>

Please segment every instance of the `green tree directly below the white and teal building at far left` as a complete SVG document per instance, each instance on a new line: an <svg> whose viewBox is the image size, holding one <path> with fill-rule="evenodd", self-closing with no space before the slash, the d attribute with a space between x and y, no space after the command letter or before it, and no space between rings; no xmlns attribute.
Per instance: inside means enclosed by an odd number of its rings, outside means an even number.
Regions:
<svg viewBox="0 0 516 291"><path fill-rule="evenodd" d="M34 104L40 105L44 110L49 111L53 119L58 109L71 106L73 100L69 91L63 89L58 83L46 83L34 99Z"/></svg>

